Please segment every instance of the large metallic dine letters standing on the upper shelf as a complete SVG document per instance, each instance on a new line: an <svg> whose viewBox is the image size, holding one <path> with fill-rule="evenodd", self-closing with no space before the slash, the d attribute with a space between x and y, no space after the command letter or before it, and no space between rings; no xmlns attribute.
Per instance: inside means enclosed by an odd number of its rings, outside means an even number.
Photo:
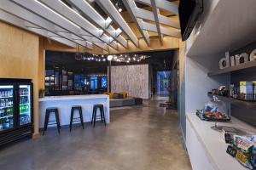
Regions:
<svg viewBox="0 0 256 170"><path fill-rule="evenodd" d="M230 56L230 52L225 53L225 57L218 62L219 69L228 68L230 66L241 65L243 63L253 61L256 59L256 49L250 55L247 53L235 54Z"/></svg>

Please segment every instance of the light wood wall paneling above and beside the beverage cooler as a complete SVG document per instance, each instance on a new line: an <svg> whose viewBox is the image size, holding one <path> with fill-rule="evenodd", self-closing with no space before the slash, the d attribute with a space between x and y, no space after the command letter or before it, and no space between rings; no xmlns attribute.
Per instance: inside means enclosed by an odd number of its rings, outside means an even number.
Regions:
<svg viewBox="0 0 256 170"><path fill-rule="evenodd" d="M0 77L32 79L34 84L34 129L38 133L39 37L0 22Z"/></svg>

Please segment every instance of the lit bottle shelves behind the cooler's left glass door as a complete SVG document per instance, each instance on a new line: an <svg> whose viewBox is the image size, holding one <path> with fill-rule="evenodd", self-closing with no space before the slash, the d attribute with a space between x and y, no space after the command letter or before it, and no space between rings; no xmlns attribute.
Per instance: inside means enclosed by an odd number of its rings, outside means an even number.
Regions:
<svg viewBox="0 0 256 170"><path fill-rule="evenodd" d="M14 86L0 86L0 131L14 127Z"/></svg>

